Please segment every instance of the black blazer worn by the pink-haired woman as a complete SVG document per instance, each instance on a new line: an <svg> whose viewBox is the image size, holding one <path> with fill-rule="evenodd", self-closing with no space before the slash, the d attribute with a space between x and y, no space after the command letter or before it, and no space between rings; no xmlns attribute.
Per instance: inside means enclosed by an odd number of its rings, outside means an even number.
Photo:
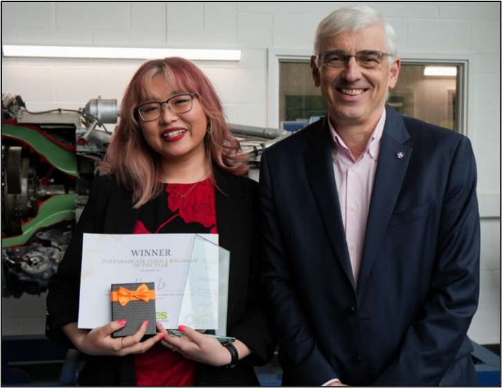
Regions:
<svg viewBox="0 0 502 388"><path fill-rule="evenodd" d="M215 168L216 219L219 245L231 252L227 334L253 350L235 369L201 364L197 385L259 385L255 365L274 353L259 286L258 184ZM47 295L46 335L74 348L61 327L78 320L82 233L132 233L139 211L131 193L107 177L98 177ZM80 385L136 385L134 357L87 356Z"/></svg>

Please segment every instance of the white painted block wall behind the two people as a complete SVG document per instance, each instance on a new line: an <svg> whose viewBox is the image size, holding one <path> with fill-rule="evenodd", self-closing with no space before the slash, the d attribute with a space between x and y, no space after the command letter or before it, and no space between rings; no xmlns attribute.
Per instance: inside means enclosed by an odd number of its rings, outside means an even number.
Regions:
<svg viewBox="0 0 502 388"><path fill-rule="evenodd" d="M310 52L314 30L337 2L3 2L3 44L240 48L237 64L198 64L229 121L267 125L268 48ZM500 342L500 3L367 2L397 30L401 53L469 55L469 136L478 161L483 215L481 303L469 334ZM2 58L2 90L30 109L120 103L141 62ZM44 296L2 299L2 335L44 331Z"/></svg>

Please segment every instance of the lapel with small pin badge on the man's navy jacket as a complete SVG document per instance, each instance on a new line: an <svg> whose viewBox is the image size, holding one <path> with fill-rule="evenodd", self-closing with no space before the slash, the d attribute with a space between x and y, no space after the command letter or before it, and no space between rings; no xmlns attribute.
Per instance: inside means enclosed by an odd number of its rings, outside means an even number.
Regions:
<svg viewBox="0 0 502 388"><path fill-rule="evenodd" d="M359 294L378 256L413 151L411 146L404 145L410 136L402 116L388 107L386 107L386 114L366 224L366 238L357 287Z"/></svg>

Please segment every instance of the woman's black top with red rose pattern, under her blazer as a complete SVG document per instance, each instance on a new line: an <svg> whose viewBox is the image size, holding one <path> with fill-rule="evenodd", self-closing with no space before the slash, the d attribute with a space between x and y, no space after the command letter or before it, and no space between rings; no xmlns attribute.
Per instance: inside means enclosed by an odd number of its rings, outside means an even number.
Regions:
<svg viewBox="0 0 502 388"><path fill-rule="evenodd" d="M141 233L217 233L213 184L205 179L195 186L166 185L159 198L141 207L134 234ZM161 344L135 355L134 364L139 386L195 385L197 363Z"/></svg>

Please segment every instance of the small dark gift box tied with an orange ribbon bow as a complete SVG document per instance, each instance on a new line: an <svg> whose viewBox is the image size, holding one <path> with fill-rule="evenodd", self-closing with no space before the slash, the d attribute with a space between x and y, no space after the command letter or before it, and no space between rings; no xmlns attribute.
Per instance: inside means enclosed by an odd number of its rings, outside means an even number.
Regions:
<svg viewBox="0 0 502 388"><path fill-rule="evenodd" d="M149 321L145 335L154 335L155 328L155 283L123 283L111 285L111 319L127 323L114 331L113 337L133 335L144 321Z"/></svg>

